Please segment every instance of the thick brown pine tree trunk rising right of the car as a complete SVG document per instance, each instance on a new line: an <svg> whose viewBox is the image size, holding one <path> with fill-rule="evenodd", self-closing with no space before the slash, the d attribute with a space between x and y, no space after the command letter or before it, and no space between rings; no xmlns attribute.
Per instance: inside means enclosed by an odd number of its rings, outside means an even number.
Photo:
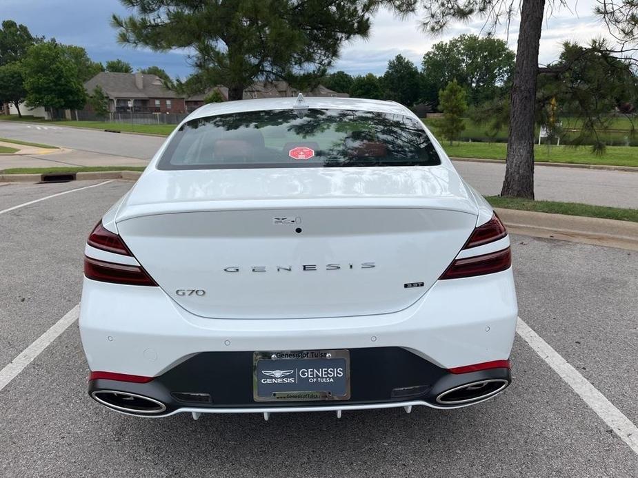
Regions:
<svg viewBox="0 0 638 478"><path fill-rule="evenodd" d="M523 0L510 96L510 132L501 196L534 199L534 124L538 50L545 0Z"/></svg>

